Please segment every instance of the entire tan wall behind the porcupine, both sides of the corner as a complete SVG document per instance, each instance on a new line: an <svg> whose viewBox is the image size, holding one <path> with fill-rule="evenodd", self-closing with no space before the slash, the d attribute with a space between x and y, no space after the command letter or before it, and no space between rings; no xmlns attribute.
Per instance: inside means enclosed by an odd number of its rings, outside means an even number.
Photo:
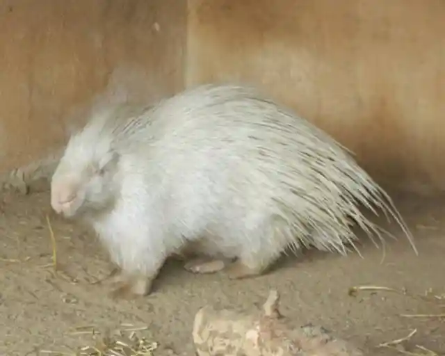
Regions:
<svg viewBox="0 0 445 356"><path fill-rule="evenodd" d="M60 147L116 69L148 97L177 92L187 51L188 86L257 84L380 181L445 188L444 1L188 0L188 26L186 13L186 0L1 0L0 175Z"/></svg>

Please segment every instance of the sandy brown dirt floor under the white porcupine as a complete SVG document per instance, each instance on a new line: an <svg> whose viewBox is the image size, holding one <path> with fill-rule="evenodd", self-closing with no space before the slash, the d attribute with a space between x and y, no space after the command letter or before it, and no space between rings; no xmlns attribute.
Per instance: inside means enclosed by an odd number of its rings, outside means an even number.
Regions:
<svg viewBox="0 0 445 356"><path fill-rule="evenodd" d="M416 345L445 353L445 200L405 198L396 204L416 238L416 257L407 239L387 240L385 258L366 238L348 257L309 251L288 258L268 275L229 281L223 274L193 275L170 261L156 281L154 293L136 300L112 300L105 286L94 284L108 275L106 254L92 234L67 223L49 208L49 195L4 195L0 216L0 355L39 355L38 350L67 352L92 344L76 327L104 331L122 324L147 327L142 335L159 343L154 355L194 355L191 326L206 305L251 309L262 305L269 289L281 295L281 311L296 323L323 325L334 334L371 349L370 355L401 355L374 348L401 339L414 329L407 350ZM49 214L62 272L51 267ZM413 295L430 291L430 302L385 291L348 295L352 286L406 289ZM445 297L444 297L445 299ZM441 309L442 308L442 309ZM402 314L423 314L406 317ZM128 326L127 326L128 327ZM45 355L41 353L40 355ZM52 354L56 355L56 354ZM74 355L74 353L71 353Z"/></svg>

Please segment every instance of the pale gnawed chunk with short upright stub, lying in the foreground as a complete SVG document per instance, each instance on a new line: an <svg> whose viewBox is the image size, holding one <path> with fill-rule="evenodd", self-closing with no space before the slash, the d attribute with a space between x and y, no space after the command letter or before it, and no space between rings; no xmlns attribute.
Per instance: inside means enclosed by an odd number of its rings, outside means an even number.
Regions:
<svg viewBox="0 0 445 356"><path fill-rule="evenodd" d="M229 309L200 309L193 324L198 356L364 356L323 327L293 326L278 310L279 295L270 291L255 314Z"/></svg>

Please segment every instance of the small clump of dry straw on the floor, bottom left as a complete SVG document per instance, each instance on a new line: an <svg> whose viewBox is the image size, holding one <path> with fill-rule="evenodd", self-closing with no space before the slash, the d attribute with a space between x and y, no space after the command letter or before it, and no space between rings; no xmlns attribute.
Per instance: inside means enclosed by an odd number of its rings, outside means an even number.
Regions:
<svg viewBox="0 0 445 356"><path fill-rule="evenodd" d="M106 330L104 334L97 332L95 327L76 327L72 334L91 334L93 345L81 346L71 353L60 351L40 350L40 355L52 356L153 356L158 343L141 337L139 333L147 327L133 327L131 324L121 325L123 330L111 333Z"/></svg>

